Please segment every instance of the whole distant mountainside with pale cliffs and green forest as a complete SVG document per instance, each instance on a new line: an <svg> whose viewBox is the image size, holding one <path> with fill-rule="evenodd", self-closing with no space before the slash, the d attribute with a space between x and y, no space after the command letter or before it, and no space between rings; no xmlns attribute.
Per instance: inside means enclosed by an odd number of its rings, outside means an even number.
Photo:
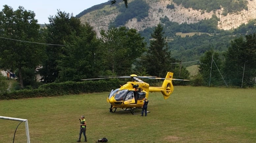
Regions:
<svg viewBox="0 0 256 143"><path fill-rule="evenodd" d="M130 0L128 8L117 0L114 5L108 1L86 9L77 17L90 23L98 36L111 27L134 28L148 45L154 28L162 24L171 55L190 61L209 49L223 53L231 40L254 33L255 12L252 0ZM182 37L179 32L188 34Z"/></svg>

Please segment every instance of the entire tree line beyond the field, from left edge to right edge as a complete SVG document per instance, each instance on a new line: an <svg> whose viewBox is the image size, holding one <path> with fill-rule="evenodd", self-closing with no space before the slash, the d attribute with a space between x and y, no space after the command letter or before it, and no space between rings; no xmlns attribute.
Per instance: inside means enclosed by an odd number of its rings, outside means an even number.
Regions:
<svg viewBox="0 0 256 143"><path fill-rule="evenodd" d="M185 67L171 64L181 61L172 56L161 24L154 27L147 46L136 29L126 27L101 30L101 38L97 38L88 23L81 24L78 18L62 11L50 16L44 28L37 22L35 13L23 7L13 10L5 5L0 11L0 69L15 72L21 88L39 84L35 71L42 76L43 83L81 81L99 75L163 77L168 71L174 72L174 78L189 79ZM215 74L220 70L225 72L229 85L242 82L244 86L254 86L255 37L250 34L231 41L224 60L218 59L219 54L208 46L209 50L200 57L200 74L193 77L192 84L208 83L209 61L213 56L219 68L212 67L212 84L221 82L222 77Z"/></svg>

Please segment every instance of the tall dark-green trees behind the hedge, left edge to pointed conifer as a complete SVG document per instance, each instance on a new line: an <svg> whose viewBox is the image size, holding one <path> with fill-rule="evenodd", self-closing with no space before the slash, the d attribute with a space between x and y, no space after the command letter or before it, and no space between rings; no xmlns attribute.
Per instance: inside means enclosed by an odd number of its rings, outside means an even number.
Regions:
<svg viewBox="0 0 256 143"><path fill-rule="evenodd" d="M81 81L99 75L162 76L175 68L166 63L175 62L169 56L167 43L156 37L163 36L160 24L152 34L156 40L146 47L136 29L113 27L102 30L98 39L88 23L81 24L78 18L62 11L50 16L44 28L37 22L35 13L23 7L13 10L5 5L0 11L0 69L15 72L21 88L38 84L35 70L43 83L51 83ZM154 52L149 54L148 49ZM150 62L152 56L159 60L143 64ZM138 59L143 60L138 62Z"/></svg>

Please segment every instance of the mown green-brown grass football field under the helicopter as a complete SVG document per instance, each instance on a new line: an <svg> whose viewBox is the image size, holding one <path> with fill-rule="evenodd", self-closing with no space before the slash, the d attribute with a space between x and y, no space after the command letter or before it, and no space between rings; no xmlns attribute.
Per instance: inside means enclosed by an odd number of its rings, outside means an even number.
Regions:
<svg viewBox="0 0 256 143"><path fill-rule="evenodd" d="M170 98L150 93L148 116L109 113L108 93L1 100L0 116L28 119L31 143L74 143L87 120L88 143L256 142L256 89L175 86ZM140 111L137 111L140 112ZM0 119L0 142L13 142L19 121ZM83 138L82 138L83 139ZM26 143L25 124L15 143Z"/></svg>

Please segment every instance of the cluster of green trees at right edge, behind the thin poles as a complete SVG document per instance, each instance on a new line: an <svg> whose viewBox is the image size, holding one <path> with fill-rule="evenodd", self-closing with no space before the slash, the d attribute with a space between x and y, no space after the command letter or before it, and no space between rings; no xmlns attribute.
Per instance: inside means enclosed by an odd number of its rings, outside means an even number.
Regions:
<svg viewBox="0 0 256 143"><path fill-rule="evenodd" d="M208 50L200 58L199 74L195 78L201 79L201 85L255 86L255 33L232 40L224 60L219 56L218 52Z"/></svg>

